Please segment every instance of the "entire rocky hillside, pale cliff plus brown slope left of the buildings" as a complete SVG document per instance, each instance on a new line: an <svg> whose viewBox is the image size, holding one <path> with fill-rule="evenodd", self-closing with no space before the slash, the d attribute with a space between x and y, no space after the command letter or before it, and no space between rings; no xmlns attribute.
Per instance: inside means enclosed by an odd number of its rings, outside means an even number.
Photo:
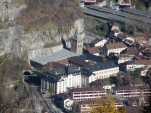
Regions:
<svg viewBox="0 0 151 113"><path fill-rule="evenodd" d="M24 62L24 60L27 59L28 53L30 53L30 51L36 51L33 52L34 54L31 54L32 57L47 54L48 51L50 52L57 49L51 47L59 45L61 43L61 38L68 40L74 37L75 32L81 33L84 29L83 20L75 13L79 9L76 5L71 7L71 4L74 4L74 0L29 1L30 5L28 6L28 4L25 4L24 0L0 0L1 113L29 113L31 112L30 110L35 110L33 108L34 99L31 98L33 96L29 90L30 87L22 82L22 70L28 69L27 62ZM51 13L42 11L45 15L41 17L39 12L35 12L41 5L36 5L36 8L31 10L31 3L38 1L45 2L45 4L48 5L47 7L52 3L53 7L55 6L54 12L57 10L58 13L63 10L63 13L61 13L63 17L55 13L53 21L51 21L52 18L50 17L45 18L46 15L54 15L52 7L50 7L52 8ZM68 4L70 7L67 7L66 1L70 3ZM60 9L57 9L58 5ZM42 9L45 9L44 4ZM35 13L36 15L34 15ZM22 14L25 15L25 17L29 17L31 20L29 21L29 18L22 17ZM72 18L70 18L70 16ZM35 19L36 17L41 17L43 19L37 20ZM71 24L68 24L68 20L71 21ZM26 21L28 22L26 23ZM60 48L60 46L58 46L58 48ZM5 54L11 54L17 58L9 57L9 55L4 56Z"/></svg>

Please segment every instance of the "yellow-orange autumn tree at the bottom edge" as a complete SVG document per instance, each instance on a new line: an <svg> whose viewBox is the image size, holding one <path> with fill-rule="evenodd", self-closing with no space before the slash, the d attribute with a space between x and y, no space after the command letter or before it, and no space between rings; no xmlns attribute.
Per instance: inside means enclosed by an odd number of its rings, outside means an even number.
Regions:
<svg viewBox="0 0 151 113"><path fill-rule="evenodd" d="M98 105L92 105L91 113L126 113L125 108L117 109L115 100L112 97L98 100Z"/></svg>

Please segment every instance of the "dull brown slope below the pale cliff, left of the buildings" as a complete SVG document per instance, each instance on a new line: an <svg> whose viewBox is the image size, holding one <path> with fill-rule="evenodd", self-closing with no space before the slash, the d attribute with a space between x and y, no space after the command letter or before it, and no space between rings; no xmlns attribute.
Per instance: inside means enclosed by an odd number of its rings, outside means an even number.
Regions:
<svg viewBox="0 0 151 113"><path fill-rule="evenodd" d="M0 113L17 113L32 107L23 84L22 70L26 67L27 63L21 59L0 57Z"/></svg>

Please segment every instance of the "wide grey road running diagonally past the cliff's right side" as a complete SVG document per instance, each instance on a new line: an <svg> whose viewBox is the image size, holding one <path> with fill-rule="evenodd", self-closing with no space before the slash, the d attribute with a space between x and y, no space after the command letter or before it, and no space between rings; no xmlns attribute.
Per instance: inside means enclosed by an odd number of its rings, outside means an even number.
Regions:
<svg viewBox="0 0 151 113"><path fill-rule="evenodd" d="M86 15L93 16L95 18L102 18L105 20L112 20L116 22L128 23L135 26L147 25L151 27L151 18L147 14L142 14L139 11L129 11L128 9L113 10L110 8L87 6L83 8L83 12Z"/></svg>

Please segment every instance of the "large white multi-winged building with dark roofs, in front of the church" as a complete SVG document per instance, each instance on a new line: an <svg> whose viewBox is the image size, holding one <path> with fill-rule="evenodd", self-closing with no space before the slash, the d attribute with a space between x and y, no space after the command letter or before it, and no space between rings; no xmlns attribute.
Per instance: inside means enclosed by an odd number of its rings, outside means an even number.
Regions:
<svg viewBox="0 0 151 113"><path fill-rule="evenodd" d="M60 68L56 67L57 64L55 64L56 66L54 65L53 69L53 66L49 64L48 66L51 68L48 69L51 70L48 71L48 78L43 79L41 82L46 84L46 86L44 85L42 88L46 87L45 89L48 90L49 85L47 84L52 84L56 87L54 91L56 94L66 93L68 89L85 87L93 81L116 76L119 72L118 65L113 61L106 60L101 62L99 61L100 57L98 57L98 61L93 61L97 60L97 58L95 59L95 56L91 55L89 57L94 57L93 60L88 60L84 57L88 56L71 58L69 59L70 64L66 61L58 61L58 65L60 64L61 66Z"/></svg>

